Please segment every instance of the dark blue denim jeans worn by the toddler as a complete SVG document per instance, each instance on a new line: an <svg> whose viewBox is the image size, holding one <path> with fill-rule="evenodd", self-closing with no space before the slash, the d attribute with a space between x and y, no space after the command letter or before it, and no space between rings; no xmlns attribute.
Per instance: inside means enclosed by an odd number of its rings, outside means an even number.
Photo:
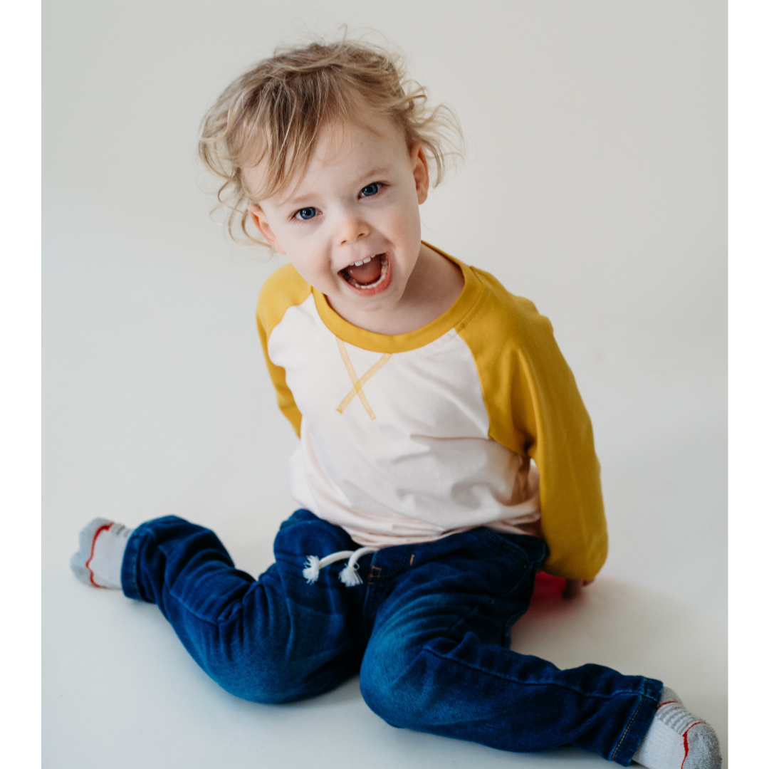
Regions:
<svg viewBox="0 0 769 769"><path fill-rule="evenodd" d="M505 751L584 747L628 766L661 681L609 667L554 664L508 649L547 548L534 537L475 528L343 562L308 584L308 555L355 550L338 526L299 510L275 538L258 580L238 571L208 529L169 516L128 541L128 598L149 601L195 661L231 694L262 703L314 697L360 673L389 724Z"/></svg>

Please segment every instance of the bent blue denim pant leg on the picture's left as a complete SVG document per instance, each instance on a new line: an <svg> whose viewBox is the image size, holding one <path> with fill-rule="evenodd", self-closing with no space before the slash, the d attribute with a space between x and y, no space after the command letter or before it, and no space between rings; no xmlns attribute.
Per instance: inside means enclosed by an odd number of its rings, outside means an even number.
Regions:
<svg viewBox="0 0 769 769"><path fill-rule="evenodd" d="M275 564L255 580L212 531L168 516L131 534L123 591L158 604L195 661L231 694L294 701L358 671L365 588L345 588L338 568L312 585L301 573L308 554L353 548L341 528L297 511L275 538Z"/></svg>

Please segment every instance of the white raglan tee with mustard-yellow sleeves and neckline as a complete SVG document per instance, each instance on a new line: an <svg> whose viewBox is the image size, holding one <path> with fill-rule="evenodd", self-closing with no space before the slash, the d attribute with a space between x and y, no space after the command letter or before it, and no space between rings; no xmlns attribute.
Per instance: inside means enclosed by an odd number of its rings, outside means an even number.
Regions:
<svg viewBox="0 0 769 769"><path fill-rule="evenodd" d="M608 544L600 468L550 321L443 255L461 295L408 334L351 325L291 265L265 282L259 335L299 437L291 494L376 548L477 526L541 531L547 571L591 579Z"/></svg>

